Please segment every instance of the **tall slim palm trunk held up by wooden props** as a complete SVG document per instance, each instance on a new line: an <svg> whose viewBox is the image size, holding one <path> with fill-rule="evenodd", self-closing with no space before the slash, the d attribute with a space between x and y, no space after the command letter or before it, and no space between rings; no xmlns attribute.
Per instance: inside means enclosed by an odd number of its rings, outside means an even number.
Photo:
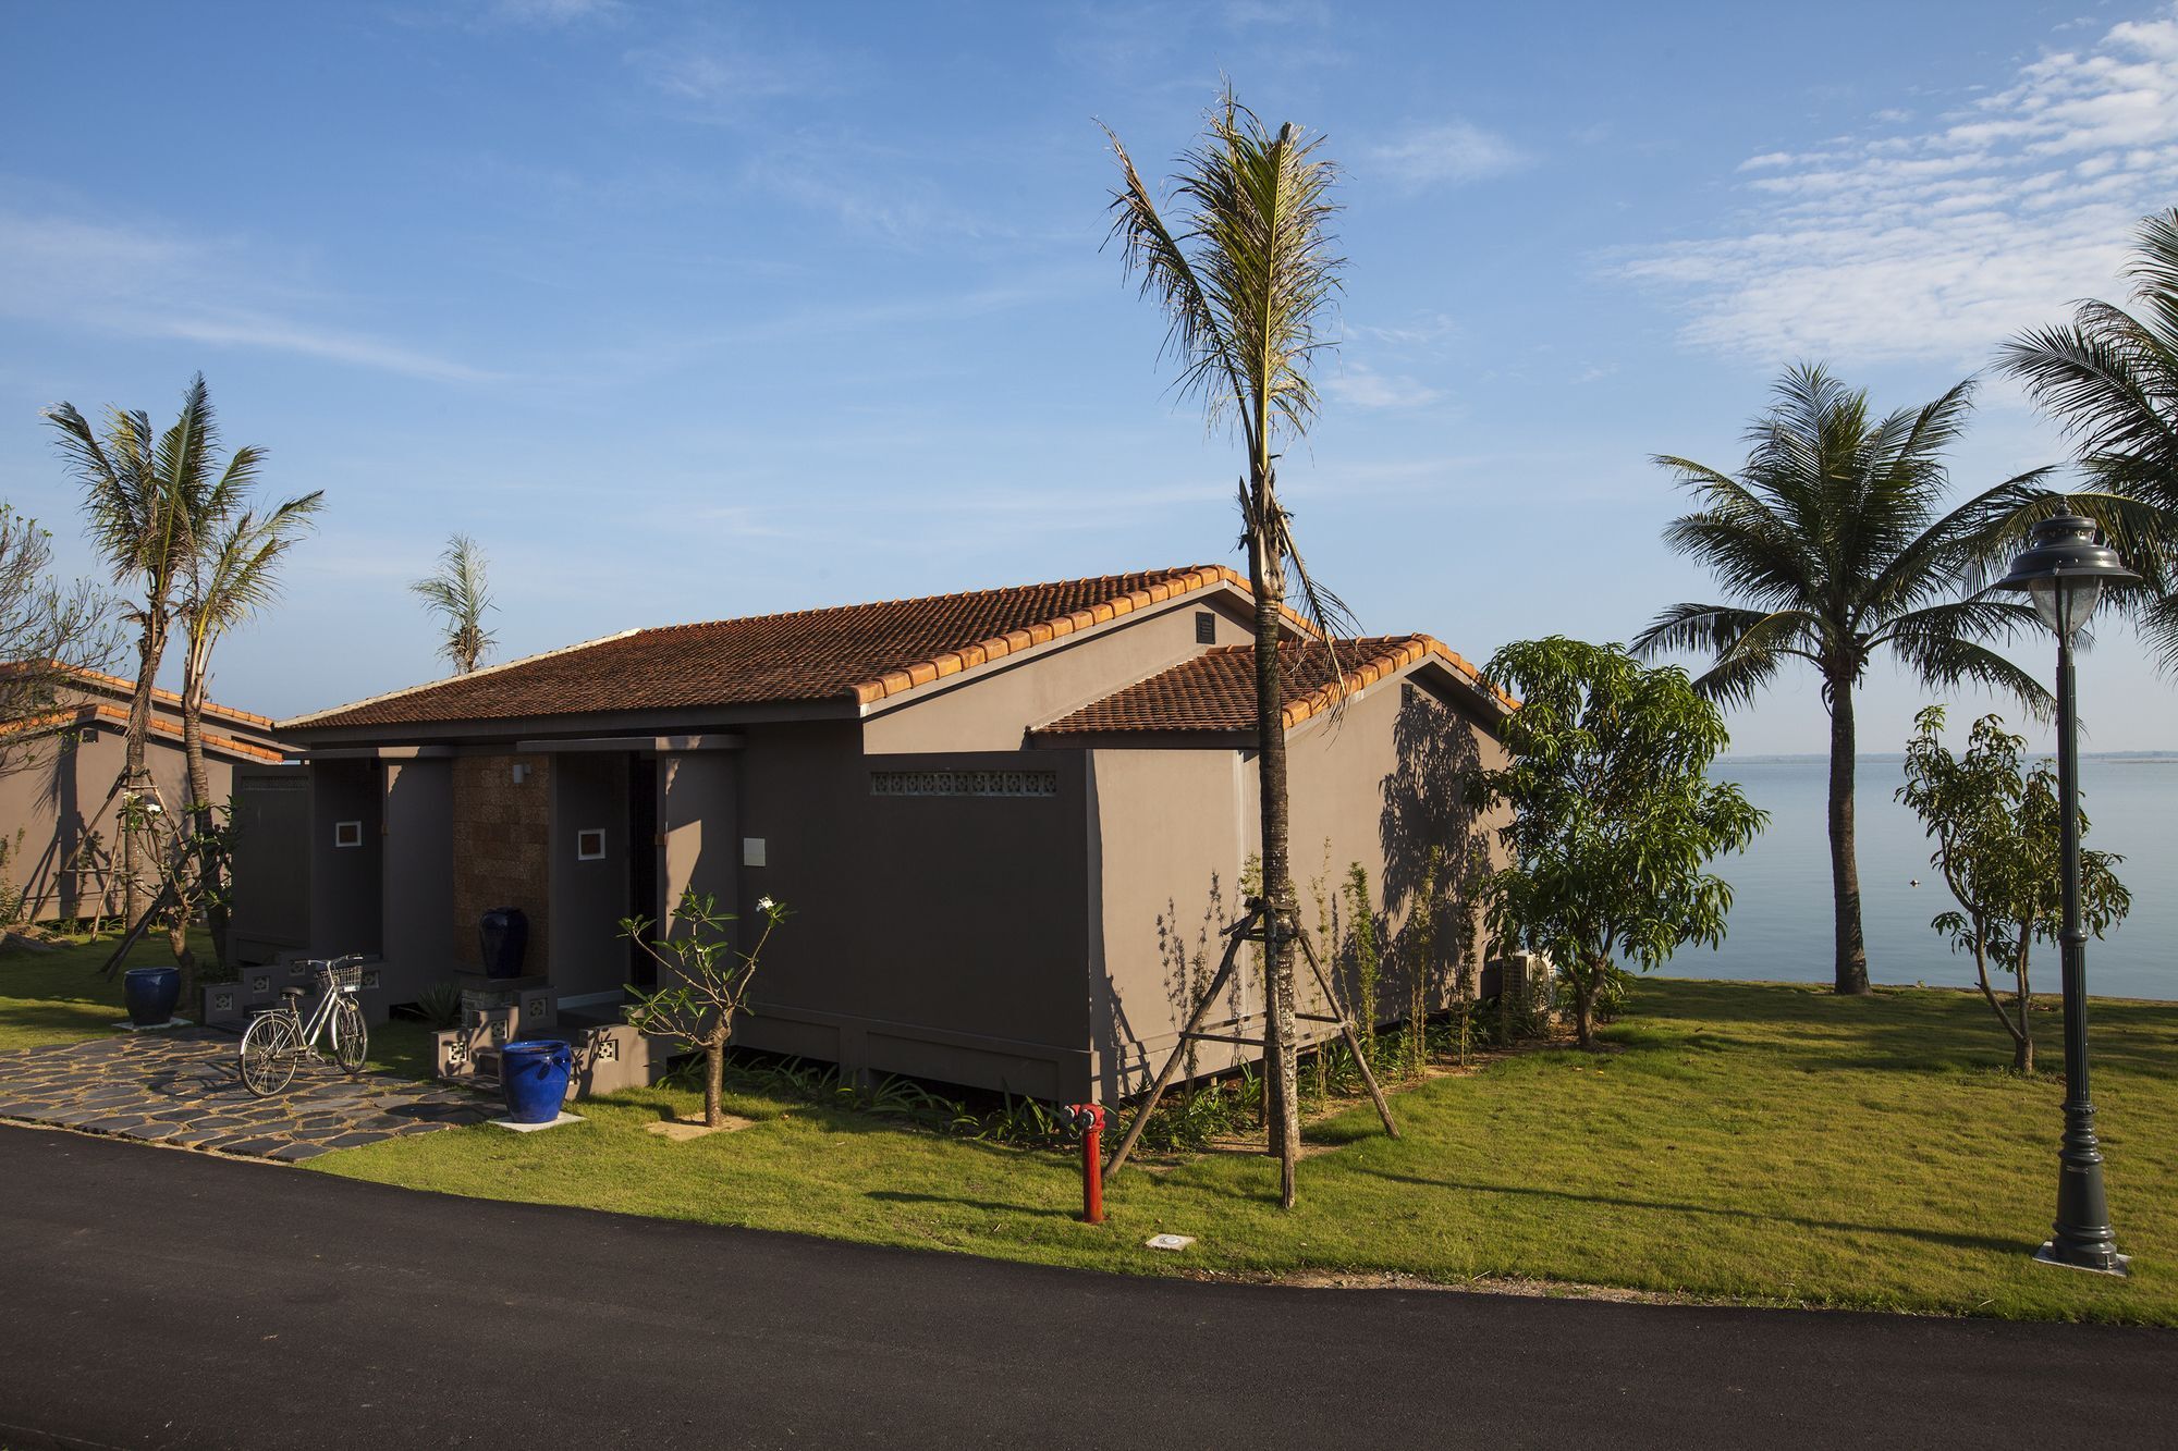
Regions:
<svg viewBox="0 0 2178 1451"><path fill-rule="evenodd" d="M1255 499L1259 519L1276 505L1259 479ZM1274 538L1274 536L1270 536ZM1289 861L1287 789L1285 789L1285 693L1278 682L1278 627L1285 601L1276 545L1255 529L1248 542L1248 584L1255 590L1255 732L1257 776L1263 806L1263 898L1270 902L1263 1057L1270 1068L1270 1144L1278 1153L1278 1200L1292 1209L1296 1166L1300 1161L1300 1111L1296 1089L1300 1063L1294 1044L1294 939L1285 928L1294 911L1294 874Z"/></svg>

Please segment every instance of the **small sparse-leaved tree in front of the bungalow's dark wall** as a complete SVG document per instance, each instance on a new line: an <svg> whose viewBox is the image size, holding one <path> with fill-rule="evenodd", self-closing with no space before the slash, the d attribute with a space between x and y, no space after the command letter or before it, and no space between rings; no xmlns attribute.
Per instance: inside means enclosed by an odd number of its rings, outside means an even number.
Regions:
<svg viewBox="0 0 2178 1451"><path fill-rule="evenodd" d="M623 917L621 935L656 959L658 989L629 987L636 1004L627 1022L640 1033L656 1033L686 1044L703 1054L703 1122L725 1124L725 1050L734 1041L734 1020L749 1007L749 985L771 930L786 919L786 909L760 898L756 911L764 930L747 952L734 948L727 924L734 913L721 913L710 893L695 887L682 891L677 922L664 937L651 937L649 917Z"/></svg>

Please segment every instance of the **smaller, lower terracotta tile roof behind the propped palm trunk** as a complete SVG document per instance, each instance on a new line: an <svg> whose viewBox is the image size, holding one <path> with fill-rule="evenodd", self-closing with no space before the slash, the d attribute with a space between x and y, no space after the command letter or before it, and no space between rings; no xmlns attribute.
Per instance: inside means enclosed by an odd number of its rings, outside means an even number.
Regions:
<svg viewBox="0 0 2178 1451"><path fill-rule="evenodd" d="M1457 675L1481 688L1481 671L1427 634L1387 634L1359 641L1335 641L1346 691L1361 691L1416 660L1437 658ZM1285 728L1329 710L1339 691L1324 678L1320 651L1300 643L1278 647L1281 684L1285 693ZM1496 695L1509 706L1509 697ZM1183 660L1163 675L1082 706L1074 715L1041 726L1037 736L1111 734L1111 732L1252 732L1255 730L1255 645L1222 645L1194 660Z"/></svg>

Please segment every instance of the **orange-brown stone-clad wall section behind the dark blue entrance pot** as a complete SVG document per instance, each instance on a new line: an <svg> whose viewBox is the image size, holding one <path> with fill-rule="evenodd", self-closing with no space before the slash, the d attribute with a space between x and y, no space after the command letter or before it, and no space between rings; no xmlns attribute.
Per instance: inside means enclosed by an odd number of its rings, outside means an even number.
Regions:
<svg viewBox="0 0 2178 1451"><path fill-rule="evenodd" d="M514 784L514 765L529 780ZM477 919L494 906L529 917L523 972L551 972L551 756L453 758L453 961L481 972Z"/></svg>

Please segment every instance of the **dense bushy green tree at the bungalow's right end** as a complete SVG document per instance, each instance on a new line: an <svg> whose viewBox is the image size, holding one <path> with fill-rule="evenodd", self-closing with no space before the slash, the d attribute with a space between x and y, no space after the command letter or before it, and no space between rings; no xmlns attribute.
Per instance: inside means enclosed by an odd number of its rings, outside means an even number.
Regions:
<svg viewBox="0 0 2178 1451"><path fill-rule="evenodd" d="M1483 808L1512 806L1498 828L1512 861L1483 887L1492 950L1546 954L1590 1048L1625 959L1649 970L1723 941L1732 887L1703 867L1745 850L1769 815L1708 780L1729 736L1686 671L1551 636L1496 651L1483 680L1520 697L1507 765L1475 773Z"/></svg>

